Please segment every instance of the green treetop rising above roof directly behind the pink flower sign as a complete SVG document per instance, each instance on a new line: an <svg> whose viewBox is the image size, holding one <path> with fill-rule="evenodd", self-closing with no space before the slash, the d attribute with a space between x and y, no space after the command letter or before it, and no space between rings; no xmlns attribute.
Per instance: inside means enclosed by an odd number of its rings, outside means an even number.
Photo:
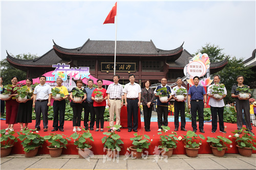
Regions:
<svg viewBox="0 0 256 170"><path fill-rule="evenodd" d="M210 58L210 62L217 62L229 57L222 53L223 50L224 48L220 48L219 45L211 44L208 42L205 44L205 46L202 46L201 49L197 50L196 54L193 54L193 56L196 56L198 53L206 53Z"/></svg>

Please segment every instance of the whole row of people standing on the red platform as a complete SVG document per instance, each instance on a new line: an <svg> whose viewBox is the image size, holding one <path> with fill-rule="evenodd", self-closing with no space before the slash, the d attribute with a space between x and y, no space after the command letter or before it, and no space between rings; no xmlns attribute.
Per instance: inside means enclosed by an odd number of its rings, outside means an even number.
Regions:
<svg viewBox="0 0 256 170"><path fill-rule="evenodd" d="M174 116L175 116L175 129L174 131L180 130L187 131L185 129L185 101L187 101L188 108L191 111L191 119L192 119L192 128L194 132L197 132L197 114L199 117L199 131L204 133L204 115L203 110L207 106L207 95L210 97L209 105L211 110L211 117L212 117L212 133L216 133L217 131L217 115L219 116L219 130L222 133L226 133L224 129L223 123L223 112L224 112L224 101L227 91L224 87L224 94L220 99L215 98L212 94L211 86L208 87L207 92L205 91L203 86L199 85L199 77L194 77L194 85L191 86L187 92L187 96L184 100L180 101L177 99L177 90L178 89L185 89L182 86L182 79L177 78L176 83L177 86L173 87L173 89L167 85L167 80L165 78L161 79L161 85L157 86L155 90L150 88L151 81L145 80L143 82L143 88L140 87L139 84L135 82L135 75L129 75L130 83L125 84L123 87L121 84L118 83L120 77L118 75L113 76L114 83L110 84L108 89L104 89L102 87L102 80L97 80L97 88L93 87L93 80L89 79L87 84L87 88L82 87L82 80L76 81L76 86L74 87L69 94L67 88L62 86L63 80L61 78L57 78L56 84L57 86L54 88L58 88L59 92L62 93L63 97L56 98L52 96L51 87L46 84L46 77L40 76L39 81L40 84L37 85L35 88L32 88L31 85L33 84L32 79L26 80L26 85L28 89L33 91L33 96L31 99L27 99L25 102L19 102L16 99L12 99L13 96L17 95L14 87L17 86L18 78L13 77L11 79L12 82L12 91L10 94L9 99L6 100L6 124L8 127L6 130L13 131L13 125L16 123L20 123L20 130L28 127L28 123L32 122L32 107L35 108L36 114L36 123L35 123L35 130L40 130L40 117L42 114L43 119L43 126L44 131L48 131L48 109L51 105L51 99L54 100L53 102L53 111L54 111L54 118L53 118L53 129L51 131L64 131L63 126L65 122L65 107L66 102L65 100L70 97L71 99L71 106L73 108L73 131L81 131L79 128L81 126L81 113L84 109L84 128L94 130L94 125L96 122L96 130L103 132L104 127L104 111L106 106L106 101L108 101L109 106L109 113L110 113L110 126L114 126L114 115L116 114L116 124L120 125L120 111L121 107L124 105L127 107L127 129L128 132L137 132L138 130L138 109L140 103L143 106L144 112L144 127L146 132L150 132L151 128L151 115L154 106L155 98L157 98L157 117L158 117L158 131L162 131L161 126L168 126L168 102L171 99L174 99ZM245 119L246 119L246 128L248 131L251 132L252 127L250 124L250 106L248 99L240 98L239 91L237 87L247 86L243 84L244 77L238 76L237 82L238 84L234 85L231 89L231 96L236 100L236 110L237 110L237 127L238 129L242 129L242 110L244 111ZM1 89L4 91L2 86L3 79L0 79ZM214 76L214 84L219 84L220 76ZM167 100L165 102L161 102L159 100L160 95L157 93L158 89L165 87L168 92ZM82 100L77 102L74 100L73 93L75 91L82 91L83 97ZM98 93L102 94L101 100L96 100L96 95ZM2 102L1 102L1 114L3 112L2 109ZM90 124L89 124L89 113L91 116ZM181 117L181 124L179 124L179 115ZM95 119L96 116L96 119ZM23 124L25 123L25 127ZM111 132L112 129L109 130ZM117 131L120 132L120 129Z"/></svg>

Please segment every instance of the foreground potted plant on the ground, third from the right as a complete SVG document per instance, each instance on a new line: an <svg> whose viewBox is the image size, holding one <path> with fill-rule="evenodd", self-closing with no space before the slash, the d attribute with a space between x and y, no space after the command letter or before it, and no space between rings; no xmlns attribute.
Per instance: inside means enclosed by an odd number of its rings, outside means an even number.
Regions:
<svg viewBox="0 0 256 170"><path fill-rule="evenodd" d="M205 137L202 134L197 135L193 131L187 131L187 134L182 136L184 137L182 140L185 143L184 148L187 156L197 157L199 146L202 144L201 139L205 139Z"/></svg>

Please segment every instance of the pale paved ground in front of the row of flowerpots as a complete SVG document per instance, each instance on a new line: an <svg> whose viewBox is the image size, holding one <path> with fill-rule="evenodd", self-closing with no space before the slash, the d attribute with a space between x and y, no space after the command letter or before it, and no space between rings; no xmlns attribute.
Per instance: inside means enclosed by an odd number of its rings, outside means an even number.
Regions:
<svg viewBox="0 0 256 170"><path fill-rule="evenodd" d="M173 155L168 159L157 156L108 159L103 155L94 155L90 159L81 159L78 155L61 155L58 158L11 155L1 158L1 169L256 169L256 154L249 158L239 154L226 154L222 158L212 154L200 154L196 158Z"/></svg>

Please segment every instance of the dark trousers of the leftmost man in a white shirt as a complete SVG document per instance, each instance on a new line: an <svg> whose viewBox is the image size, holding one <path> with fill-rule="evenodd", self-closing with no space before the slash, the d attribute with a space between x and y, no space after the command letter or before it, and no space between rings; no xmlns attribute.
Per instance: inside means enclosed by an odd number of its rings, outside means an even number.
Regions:
<svg viewBox="0 0 256 170"><path fill-rule="evenodd" d="M48 100L44 102L35 102L35 128L40 129L41 113L42 113L42 124L44 128L48 128Z"/></svg>

